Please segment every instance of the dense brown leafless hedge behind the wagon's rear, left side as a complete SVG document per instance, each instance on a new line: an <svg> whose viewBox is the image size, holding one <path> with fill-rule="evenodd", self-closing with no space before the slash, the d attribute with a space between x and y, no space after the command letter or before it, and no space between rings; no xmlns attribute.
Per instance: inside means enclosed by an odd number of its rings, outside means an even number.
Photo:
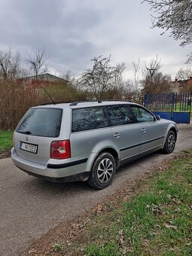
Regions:
<svg viewBox="0 0 192 256"><path fill-rule="evenodd" d="M83 100L87 97L86 93L66 82L0 80L0 130L14 130L27 109L51 102L43 88L46 88L54 102Z"/></svg>

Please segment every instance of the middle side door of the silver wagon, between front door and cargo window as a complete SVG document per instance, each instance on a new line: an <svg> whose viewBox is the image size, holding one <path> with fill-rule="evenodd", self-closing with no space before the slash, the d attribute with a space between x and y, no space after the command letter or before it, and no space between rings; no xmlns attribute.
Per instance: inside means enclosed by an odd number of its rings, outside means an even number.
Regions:
<svg viewBox="0 0 192 256"><path fill-rule="evenodd" d="M129 106L109 105L105 108L111 122L114 143L120 151L120 160L126 162L130 157L139 157L142 134Z"/></svg>

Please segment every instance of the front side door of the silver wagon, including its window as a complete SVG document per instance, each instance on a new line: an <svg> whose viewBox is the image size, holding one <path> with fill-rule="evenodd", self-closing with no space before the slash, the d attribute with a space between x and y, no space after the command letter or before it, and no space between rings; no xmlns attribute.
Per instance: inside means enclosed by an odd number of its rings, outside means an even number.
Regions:
<svg viewBox="0 0 192 256"><path fill-rule="evenodd" d="M160 148L166 129L163 123L155 120L154 115L142 106L132 105L130 108L136 115L136 126L142 134L141 153Z"/></svg>

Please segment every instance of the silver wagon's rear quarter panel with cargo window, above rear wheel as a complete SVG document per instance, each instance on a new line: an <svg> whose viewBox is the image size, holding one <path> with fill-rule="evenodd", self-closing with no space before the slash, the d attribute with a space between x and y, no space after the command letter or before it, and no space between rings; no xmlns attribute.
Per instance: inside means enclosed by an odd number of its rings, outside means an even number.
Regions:
<svg viewBox="0 0 192 256"><path fill-rule="evenodd" d="M102 106L72 109L72 157L97 154L111 146L111 128Z"/></svg>

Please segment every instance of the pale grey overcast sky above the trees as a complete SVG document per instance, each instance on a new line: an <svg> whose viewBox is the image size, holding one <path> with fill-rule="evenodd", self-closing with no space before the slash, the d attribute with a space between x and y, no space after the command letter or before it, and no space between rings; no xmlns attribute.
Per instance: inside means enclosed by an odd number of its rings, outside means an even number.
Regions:
<svg viewBox="0 0 192 256"><path fill-rule="evenodd" d="M158 56L161 71L175 78L190 47L151 29L150 6L142 0L1 0L0 50L46 48L50 72L78 76L94 56L125 62L125 78L133 78L132 61Z"/></svg>

